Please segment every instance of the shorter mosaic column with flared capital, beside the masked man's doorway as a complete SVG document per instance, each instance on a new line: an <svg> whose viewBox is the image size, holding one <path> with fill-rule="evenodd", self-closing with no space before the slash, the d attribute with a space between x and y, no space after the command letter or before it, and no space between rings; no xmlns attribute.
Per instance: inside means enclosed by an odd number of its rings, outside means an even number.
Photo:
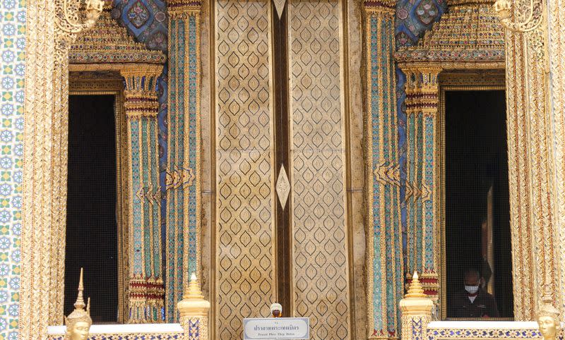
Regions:
<svg viewBox="0 0 565 340"><path fill-rule="evenodd" d="M400 68L406 75L408 272L421 273L425 293L437 302L441 242L436 214L435 139L441 68Z"/></svg>

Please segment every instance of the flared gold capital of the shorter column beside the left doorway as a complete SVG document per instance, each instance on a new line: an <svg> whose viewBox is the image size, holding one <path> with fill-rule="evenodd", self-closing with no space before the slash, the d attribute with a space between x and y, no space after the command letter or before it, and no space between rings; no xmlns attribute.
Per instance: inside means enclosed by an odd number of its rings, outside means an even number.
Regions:
<svg viewBox="0 0 565 340"><path fill-rule="evenodd" d="M124 108L128 118L157 118L157 78L162 73L162 65L131 64L120 70L126 81Z"/></svg>

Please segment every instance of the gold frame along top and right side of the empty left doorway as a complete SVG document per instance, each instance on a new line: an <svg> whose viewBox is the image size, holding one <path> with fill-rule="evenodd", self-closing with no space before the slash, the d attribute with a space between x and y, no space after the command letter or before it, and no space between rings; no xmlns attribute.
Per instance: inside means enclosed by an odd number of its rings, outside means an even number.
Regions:
<svg viewBox="0 0 565 340"><path fill-rule="evenodd" d="M95 77L93 73L70 73L69 96L71 95L113 95L114 122L116 124L116 218L118 243L118 317L123 323L127 315L126 296L128 266L128 218L129 218L129 148L128 130L124 112L124 84L121 75L108 74L111 78ZM64 279L64 278L63 278Z"/></svg>

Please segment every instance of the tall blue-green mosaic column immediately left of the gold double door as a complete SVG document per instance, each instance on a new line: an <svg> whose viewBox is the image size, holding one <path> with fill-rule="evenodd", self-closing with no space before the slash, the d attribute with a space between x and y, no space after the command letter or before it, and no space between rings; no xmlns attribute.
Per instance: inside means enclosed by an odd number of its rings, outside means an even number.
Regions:
<svg viewBox="0 0 565 340"><path fill-rule="evenodd" d="M169 10L167 159L167 286L165 317L178 320L177 302L188 273L199 271L200 115L198 1L173 0Z"/></svg>

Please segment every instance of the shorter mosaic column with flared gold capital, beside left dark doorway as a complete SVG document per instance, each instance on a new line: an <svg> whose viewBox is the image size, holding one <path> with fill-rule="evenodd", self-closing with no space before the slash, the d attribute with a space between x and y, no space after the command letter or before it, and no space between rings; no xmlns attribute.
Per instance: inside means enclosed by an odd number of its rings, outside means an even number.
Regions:
<svg viewBox="0 0 565 340"><path fill-rule="evenodd" d="M162 322L161 191L157 146L157 77L160 65L132 65L124 108L131 154L129 218L129 322Z"/></svg>

